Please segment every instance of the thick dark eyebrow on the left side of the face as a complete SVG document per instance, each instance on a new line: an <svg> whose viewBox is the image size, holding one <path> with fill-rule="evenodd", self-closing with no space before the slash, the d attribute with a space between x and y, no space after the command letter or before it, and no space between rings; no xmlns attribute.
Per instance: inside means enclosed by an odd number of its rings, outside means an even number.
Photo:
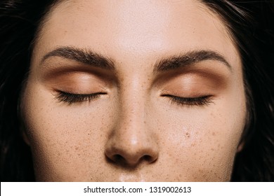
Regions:
<svg viewBox="0 0 274 196"><path fill-rule="evenodd" d="M103 57L103 55L92 52L91 50L74 48L71 46L56 48L55 50L48 52L41 59L41 63L49 57L63 57L65 59L72 59L74 61L100 67L102 69L115 69L114 62L112 62L110 58Z"/></svg>

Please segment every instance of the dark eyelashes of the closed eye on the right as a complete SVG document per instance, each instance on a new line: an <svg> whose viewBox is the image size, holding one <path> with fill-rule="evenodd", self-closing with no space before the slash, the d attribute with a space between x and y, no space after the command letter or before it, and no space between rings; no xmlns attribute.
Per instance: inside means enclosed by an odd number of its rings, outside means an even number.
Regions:
<svg viewBox="0 0 274 196"><path fill-rule="evenodd" d="M172 103L179 106L207 106L212 103L212 97L210 95L203 97L176 97L170 94L164 94L162 97L169 97Z"/></svg>

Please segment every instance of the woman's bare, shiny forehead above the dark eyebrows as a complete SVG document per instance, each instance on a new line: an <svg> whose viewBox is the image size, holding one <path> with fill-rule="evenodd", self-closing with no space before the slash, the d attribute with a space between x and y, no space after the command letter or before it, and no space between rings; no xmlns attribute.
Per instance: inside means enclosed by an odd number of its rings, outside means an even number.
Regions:
<svg viewBox="0 0 274 196"><path fill-rule="evenodd" d="M37 41L44 52L73 45L136 60L195 49L237 53L223 22L200 1L62 1L45 21Z"/></svg>

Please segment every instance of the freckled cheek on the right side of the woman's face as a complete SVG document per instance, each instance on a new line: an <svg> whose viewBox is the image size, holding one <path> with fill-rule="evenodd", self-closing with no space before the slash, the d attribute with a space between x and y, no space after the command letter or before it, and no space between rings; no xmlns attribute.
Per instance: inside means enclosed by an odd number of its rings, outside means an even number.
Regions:
<svg viewBox="0 0 274 196"><path fill-rule="evenodd" d="M164 127L163 159L169 160L164 168L170 174L181 171L178 181L230 180L245 121L244 99L233 99L204 109L170 110L168 118L159 119Z"/></svg>

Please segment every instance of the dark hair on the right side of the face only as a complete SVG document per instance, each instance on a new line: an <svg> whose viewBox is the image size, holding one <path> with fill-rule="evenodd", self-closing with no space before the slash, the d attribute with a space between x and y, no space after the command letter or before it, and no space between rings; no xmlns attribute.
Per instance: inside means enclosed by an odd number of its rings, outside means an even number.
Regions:
<svg viewBox="0 0 274 196"><path fill-rule="evenodd" d="M274 1L203 2L226 22L244 70L247 124L231 180L274 181Z"/></svg>

